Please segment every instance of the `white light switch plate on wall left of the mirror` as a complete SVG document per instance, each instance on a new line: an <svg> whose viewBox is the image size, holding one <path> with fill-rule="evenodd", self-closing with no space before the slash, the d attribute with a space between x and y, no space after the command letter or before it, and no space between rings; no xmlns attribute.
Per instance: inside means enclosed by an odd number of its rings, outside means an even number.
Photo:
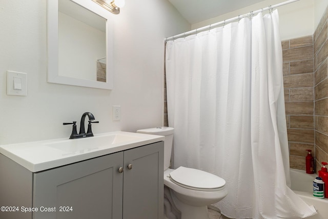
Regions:
<svg viewBox="0 0 328 219"><path fill-rule="evenodd" d="M14 77L16 81L17 78L20 78L22 82L21 90L14 90ZM18 88L20 87L18 86ZM7 71L7 95L27 96L27 73Z"/></svg>

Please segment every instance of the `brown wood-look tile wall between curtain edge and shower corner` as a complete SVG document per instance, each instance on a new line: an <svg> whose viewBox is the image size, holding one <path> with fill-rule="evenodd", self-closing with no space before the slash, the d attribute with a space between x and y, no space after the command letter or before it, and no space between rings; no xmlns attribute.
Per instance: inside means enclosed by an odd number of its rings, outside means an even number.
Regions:
<svg viewBox="0 0 328 219"><path fill-rule="evenodd" d="M305 170L306 149L315 153L313 37L281 45L290 167Z"/></svg>

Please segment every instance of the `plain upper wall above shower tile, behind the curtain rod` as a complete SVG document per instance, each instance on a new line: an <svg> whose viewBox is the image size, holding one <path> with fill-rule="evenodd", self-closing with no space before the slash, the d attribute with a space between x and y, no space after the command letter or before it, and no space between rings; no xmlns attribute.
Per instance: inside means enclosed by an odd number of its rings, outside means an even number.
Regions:
<svg viewBox="0 0 328 219"><path fill-rule="evenodd" d="M236 17L238 15L246 14L251 11L266 8L270 5L275 5L285 1L286 0L266 0L197 24L193 24L192 29L221 22L224 21L224 19ZM316 1L328 2L327 0ZM281 40L313 34L316 27L314 26L314 5L315 0L300 0L278 8Z"/></svg>

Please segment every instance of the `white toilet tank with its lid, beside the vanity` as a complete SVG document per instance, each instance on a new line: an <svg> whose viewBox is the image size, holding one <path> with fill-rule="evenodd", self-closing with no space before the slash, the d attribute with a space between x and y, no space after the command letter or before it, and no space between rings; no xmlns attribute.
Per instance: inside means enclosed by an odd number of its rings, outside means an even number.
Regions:
<svg viewBox="0 0 328 219"><path fill-rule="evenodd" d="M150 128L150 129L140 129L140 130L137 130L137 133L155 134L155 135L165 136L165 140L164 140L164 170L168 169L170 167L170 161L171 161L174 128L157 127L157 128Z"/></svg>

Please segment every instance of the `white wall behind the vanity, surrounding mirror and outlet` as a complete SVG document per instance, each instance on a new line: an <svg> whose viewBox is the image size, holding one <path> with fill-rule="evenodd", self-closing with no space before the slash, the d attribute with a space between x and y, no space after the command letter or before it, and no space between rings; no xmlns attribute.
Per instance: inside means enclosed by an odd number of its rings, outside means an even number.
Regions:
<svg viewBox="0 0 328 219"><path fill-rule="evenodd" d="M89 1L89 0L86 0ZM90 111L94 133L162 125L164 42L190 30L167 0L127 1L114 22L114 89L47 83L47 1L0 6L0 145L68 137ZM109 12L110 13L110 12ZM28 73L28 96L6 95L6 71ZM121 121L112 121L112 106Z"/></svg>

